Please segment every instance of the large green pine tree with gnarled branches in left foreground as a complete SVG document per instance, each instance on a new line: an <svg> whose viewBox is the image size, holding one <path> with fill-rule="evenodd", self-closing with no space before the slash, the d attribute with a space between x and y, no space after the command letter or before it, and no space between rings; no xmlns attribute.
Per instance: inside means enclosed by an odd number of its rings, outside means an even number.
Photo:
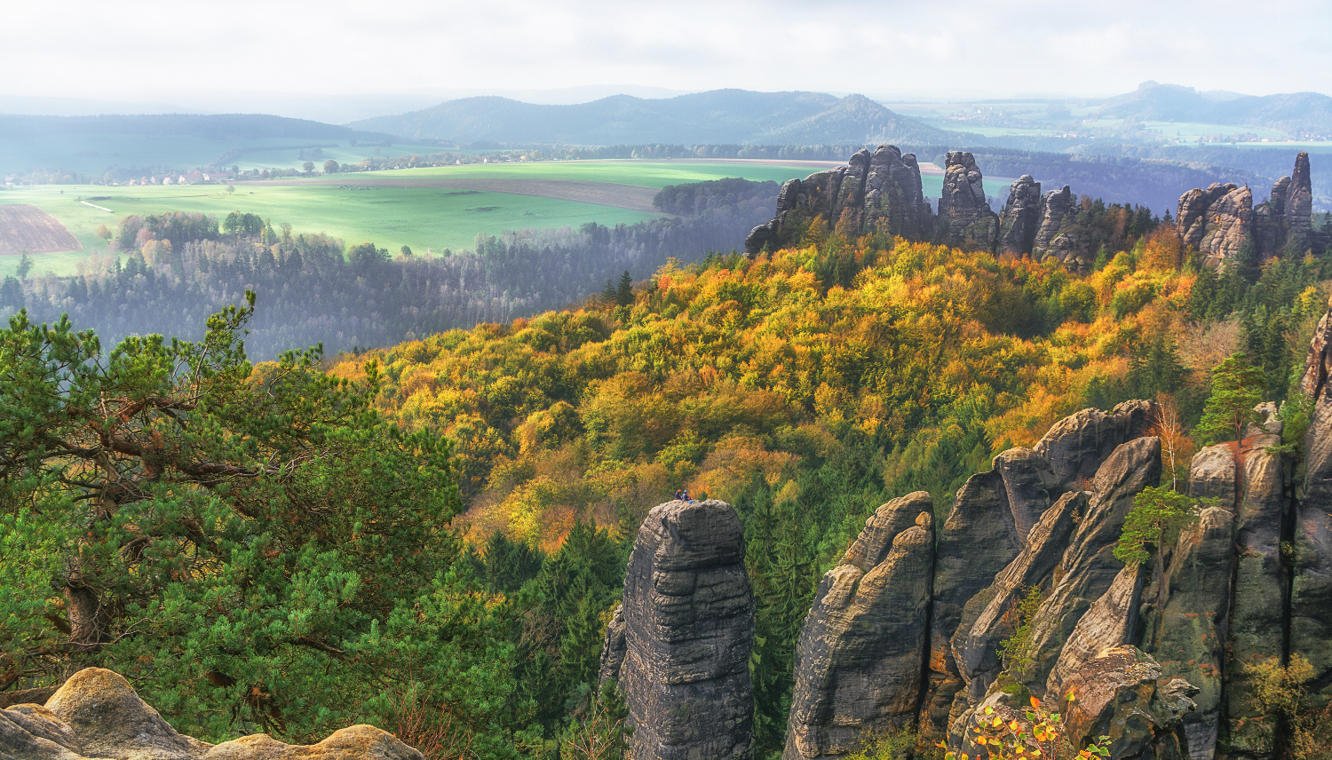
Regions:
<svg viewBox="0 0 1332 760"><path fill-rule="evenodd" d="M252 366L246 299L200 342L0 330L0 688L109 667L182 732L308 741L429 684L474 752L513 756L448 442L380 419L373 365Z"/></svg>

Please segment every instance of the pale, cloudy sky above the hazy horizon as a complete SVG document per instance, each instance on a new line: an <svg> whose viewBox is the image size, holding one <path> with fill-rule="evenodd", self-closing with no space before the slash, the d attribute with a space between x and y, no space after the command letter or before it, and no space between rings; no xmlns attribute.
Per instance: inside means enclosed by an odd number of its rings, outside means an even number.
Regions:
<svg viewBox="0 0 1332 760"><path fill-rule="evenodd" d="M325 118L341 108L349 120L480 93L535 102L717 88L888 101L1098 97L1144 80L1332 93L1327 0L5 5L0 106L7 97L29 105L69 98L73 110L129 102Z"/></svg>

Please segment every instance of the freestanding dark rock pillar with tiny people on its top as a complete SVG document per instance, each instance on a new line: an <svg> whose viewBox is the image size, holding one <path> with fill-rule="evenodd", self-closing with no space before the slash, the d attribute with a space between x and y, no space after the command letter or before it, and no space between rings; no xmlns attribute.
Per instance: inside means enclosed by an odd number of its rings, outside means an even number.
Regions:
<svg viewBox="0 0 1332 760"><path fill-rule="evenodd" d="M735 510L715 499L653 507L621 610L634 757L753 757L754 598Z"/></svg>

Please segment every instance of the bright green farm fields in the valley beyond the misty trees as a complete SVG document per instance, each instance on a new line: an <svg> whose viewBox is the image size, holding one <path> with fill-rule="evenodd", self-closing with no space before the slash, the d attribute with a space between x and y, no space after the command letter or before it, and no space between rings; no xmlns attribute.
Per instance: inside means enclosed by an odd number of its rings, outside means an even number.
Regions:
<svg viewBox="0 0 1332 760"><path fill-rule="evenodd" d="M328 150L325 150L328 153ZM785 181L814 172L801 166L759 164L690 164L683 161L563 161L402 169L373 174L346 174L349 185L358 180L408 177L509 177L585 180L662 188L721 177ZM940 180L926 177L926 192L939 194ZM101 186L37 185L0 189L0 204L33 204L60 220L84 246L84 253L57 253L37 257L35 273L72 274L75 262L89 253L105 252L97 228L115 229L129 214L201 212L218 218L232 210L256 213L276 226L288 222L297 232L324 232L349 245L373 241L398 250L472 249L476 236L500 234L527 228L578 226L595 221L603 225L634 224L655 214L574 201L518 196L510 193L450 189L373 188L341 190L336 186L300 186L274 182L237 185L225 193L220 185L185 186ZM88 200L112 209L101 212L80 204ZM11 274L17 257L0 257L0 277Z"/></svg>

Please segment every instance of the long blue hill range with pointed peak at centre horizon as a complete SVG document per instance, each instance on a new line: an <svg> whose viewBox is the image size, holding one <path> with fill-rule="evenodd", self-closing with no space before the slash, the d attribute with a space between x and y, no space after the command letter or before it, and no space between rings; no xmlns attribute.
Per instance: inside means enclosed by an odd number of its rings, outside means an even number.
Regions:
<svg viewBox="0 0 1332 760"><path fill-rule="evenodd" d="M947 142L956 133L892 113L864 96L717 89L646 100L627 95L577 105L466 97L348 126L409 140L457 142L835 144Z"/></svg>

